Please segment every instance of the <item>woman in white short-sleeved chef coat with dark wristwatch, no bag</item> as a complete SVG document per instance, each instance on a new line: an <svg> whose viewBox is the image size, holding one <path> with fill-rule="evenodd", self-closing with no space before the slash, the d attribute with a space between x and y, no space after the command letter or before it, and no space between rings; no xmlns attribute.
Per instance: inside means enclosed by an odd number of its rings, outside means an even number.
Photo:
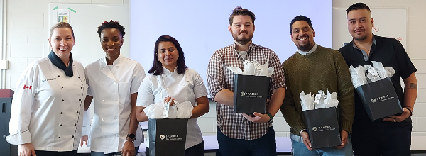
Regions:
<svg viewBox="0 0 426 156"><path fill-rule="evenodd" d="M85 69L89 91L84 110L94 99L90 150L96 156L133 156L143 138L136 98L145 71L140 63L121 55L125 32L118 22L105 21L97 33L105 57Z"/></svg>

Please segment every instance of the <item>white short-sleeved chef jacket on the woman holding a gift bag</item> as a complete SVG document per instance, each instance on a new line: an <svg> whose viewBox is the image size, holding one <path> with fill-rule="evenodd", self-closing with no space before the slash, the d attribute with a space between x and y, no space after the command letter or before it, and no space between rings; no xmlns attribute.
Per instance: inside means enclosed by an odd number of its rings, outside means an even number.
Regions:
<svg viewBox="0 0 426 156"><path fill-rule="evenodd" d="M151 104L164 101L166 96L170 96L179 102L190 101L192 106L196 106L195 99L207 96L207 89L194 69L187 68L185 74L178 74L177 67L173 72L164 69L160 75L148 74L141 84L138 93L138 106L147 107ZM148 138L149 139L149 138ZM149 140L147 139L147 147ZM188 120L187 137L185 149L202 142L201 130L197 124L197 118Z"/></svg>

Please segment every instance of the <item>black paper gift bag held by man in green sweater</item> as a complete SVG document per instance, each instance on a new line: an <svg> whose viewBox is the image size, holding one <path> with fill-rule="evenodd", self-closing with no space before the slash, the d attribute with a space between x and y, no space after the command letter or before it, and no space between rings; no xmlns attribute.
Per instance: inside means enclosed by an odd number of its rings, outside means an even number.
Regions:
<svg viewBox="0 0 426 156"><path fill-rule="evenodd" d="M312 149L341 145L335 107L303 111Z"/></svg>

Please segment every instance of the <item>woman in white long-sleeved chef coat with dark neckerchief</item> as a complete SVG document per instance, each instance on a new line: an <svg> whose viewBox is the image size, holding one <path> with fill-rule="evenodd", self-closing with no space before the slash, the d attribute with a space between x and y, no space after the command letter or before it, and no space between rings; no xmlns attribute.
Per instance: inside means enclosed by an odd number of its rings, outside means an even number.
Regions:
<svg viewBox="0 0 426 156"><path fill-rule="evenodd" d="M72 59L74 32L61 22L50 28L48 57L26 67L16 84L6 140L19 155L77 155L87 93L84 68Z"/></svg>

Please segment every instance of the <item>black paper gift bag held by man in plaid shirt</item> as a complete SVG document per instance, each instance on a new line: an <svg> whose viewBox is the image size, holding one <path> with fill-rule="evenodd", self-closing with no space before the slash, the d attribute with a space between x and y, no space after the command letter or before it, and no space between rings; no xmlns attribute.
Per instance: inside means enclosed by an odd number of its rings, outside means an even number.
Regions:
<svg viewBox="0 0 426 156"><path fill-rule="evenodd" d="M269 77L235 74L234 110L236 113L266 113Z"/></svg>

